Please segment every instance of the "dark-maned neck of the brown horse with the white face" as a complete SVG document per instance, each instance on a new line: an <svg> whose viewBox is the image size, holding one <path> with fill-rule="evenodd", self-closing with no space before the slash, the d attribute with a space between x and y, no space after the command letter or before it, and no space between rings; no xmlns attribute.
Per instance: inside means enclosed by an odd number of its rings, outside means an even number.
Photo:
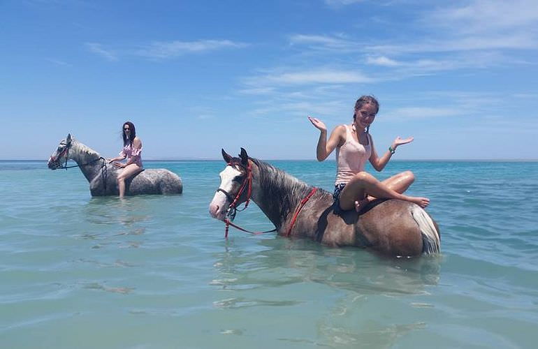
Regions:
<svg viewBox="0 0 538 349"><path fill-rule="evenodd" d="M279 229L307 195L309 187L267 164L254 165L254 169L252 200Z"/></svg>

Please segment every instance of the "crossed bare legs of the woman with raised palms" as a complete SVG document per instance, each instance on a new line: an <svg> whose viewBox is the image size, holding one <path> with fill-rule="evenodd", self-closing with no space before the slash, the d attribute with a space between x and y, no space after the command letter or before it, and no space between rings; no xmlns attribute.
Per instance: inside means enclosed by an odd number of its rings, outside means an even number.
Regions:
<svg viewBox="0 0 538 349"><path fill-rule="evenodd" d="M405 173L405 172L403 172ZM405 175L402 174L401 178L397 178L388 181L390 186L378 181L372 174L368 172L359 172L356 176L349 181L348 184L342 190L340 194L340 207L344 210L347 209L356 209L360 210L365 203L368 202L368 199L365 200L366 193L372 195L375 198L389 198L389 199L400 199L405 201L414 202L416 205L421 207L426 207L430 203L428 198L420 198L414 196L403 195L398 191L395 191L393 188L398 189L399 191L405 191L412 181L409 179L409 174L407 174L407 179ZM391 188L391 186L393 188Z"/></svg>

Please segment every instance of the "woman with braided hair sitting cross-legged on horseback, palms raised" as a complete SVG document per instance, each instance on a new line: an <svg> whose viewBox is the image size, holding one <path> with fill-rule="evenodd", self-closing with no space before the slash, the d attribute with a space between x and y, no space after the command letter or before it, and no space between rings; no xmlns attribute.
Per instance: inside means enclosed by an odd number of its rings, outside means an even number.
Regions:
<svg viewBox="0 0 538 349"><path fill-rule="evenodd" d="M310 122L321 131L317 144L317 159L323 161L336 148L337 174L335 183L335 208L344 211L361 211L372 198L392 198L416 203L426 207L428 198L403 195L414 181L414 174L405 171L379 181L365 172L365 163L370 161L377 171L383 170L397 147L413 141L412 137L402 140L395 138L388 150L377 156L372 136L368 132L379 111L379 103L373 96L362 96L355 103L351 125L337 126L327 140L327 127L314 117Z"/></svg>

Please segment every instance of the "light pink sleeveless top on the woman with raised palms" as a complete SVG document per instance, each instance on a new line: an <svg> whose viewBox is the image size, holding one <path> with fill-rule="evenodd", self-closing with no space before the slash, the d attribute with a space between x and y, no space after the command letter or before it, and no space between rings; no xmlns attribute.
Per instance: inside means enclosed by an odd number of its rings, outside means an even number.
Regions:
<svg viewBox="0 0 538 349"><path fill-rule="evenodd" d="M336 148L335 185L347 184L355 174L364 171L364 165L372 155L370 136L368 136L368 144L363 145L353 138L349 126L344 125L344 127L346 128L346 141L342 147Z"/></svg>

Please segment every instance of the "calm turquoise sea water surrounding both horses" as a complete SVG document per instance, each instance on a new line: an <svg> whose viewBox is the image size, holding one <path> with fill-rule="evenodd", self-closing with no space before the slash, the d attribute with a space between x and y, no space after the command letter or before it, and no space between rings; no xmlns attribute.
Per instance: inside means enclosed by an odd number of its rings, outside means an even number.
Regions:
<svg viewBox="0 0 538 349"><path fill-rule="evenodd" d="M270 163L331 190L333 162ZM222 161L145 166L184 193L91 198L76 168L0 162L1 348L535 348L536 162L389 163L376 176L413 170L441 228L442 254L414 260L225 240ZM272 228L256 205L235 222Z"/></svg>

